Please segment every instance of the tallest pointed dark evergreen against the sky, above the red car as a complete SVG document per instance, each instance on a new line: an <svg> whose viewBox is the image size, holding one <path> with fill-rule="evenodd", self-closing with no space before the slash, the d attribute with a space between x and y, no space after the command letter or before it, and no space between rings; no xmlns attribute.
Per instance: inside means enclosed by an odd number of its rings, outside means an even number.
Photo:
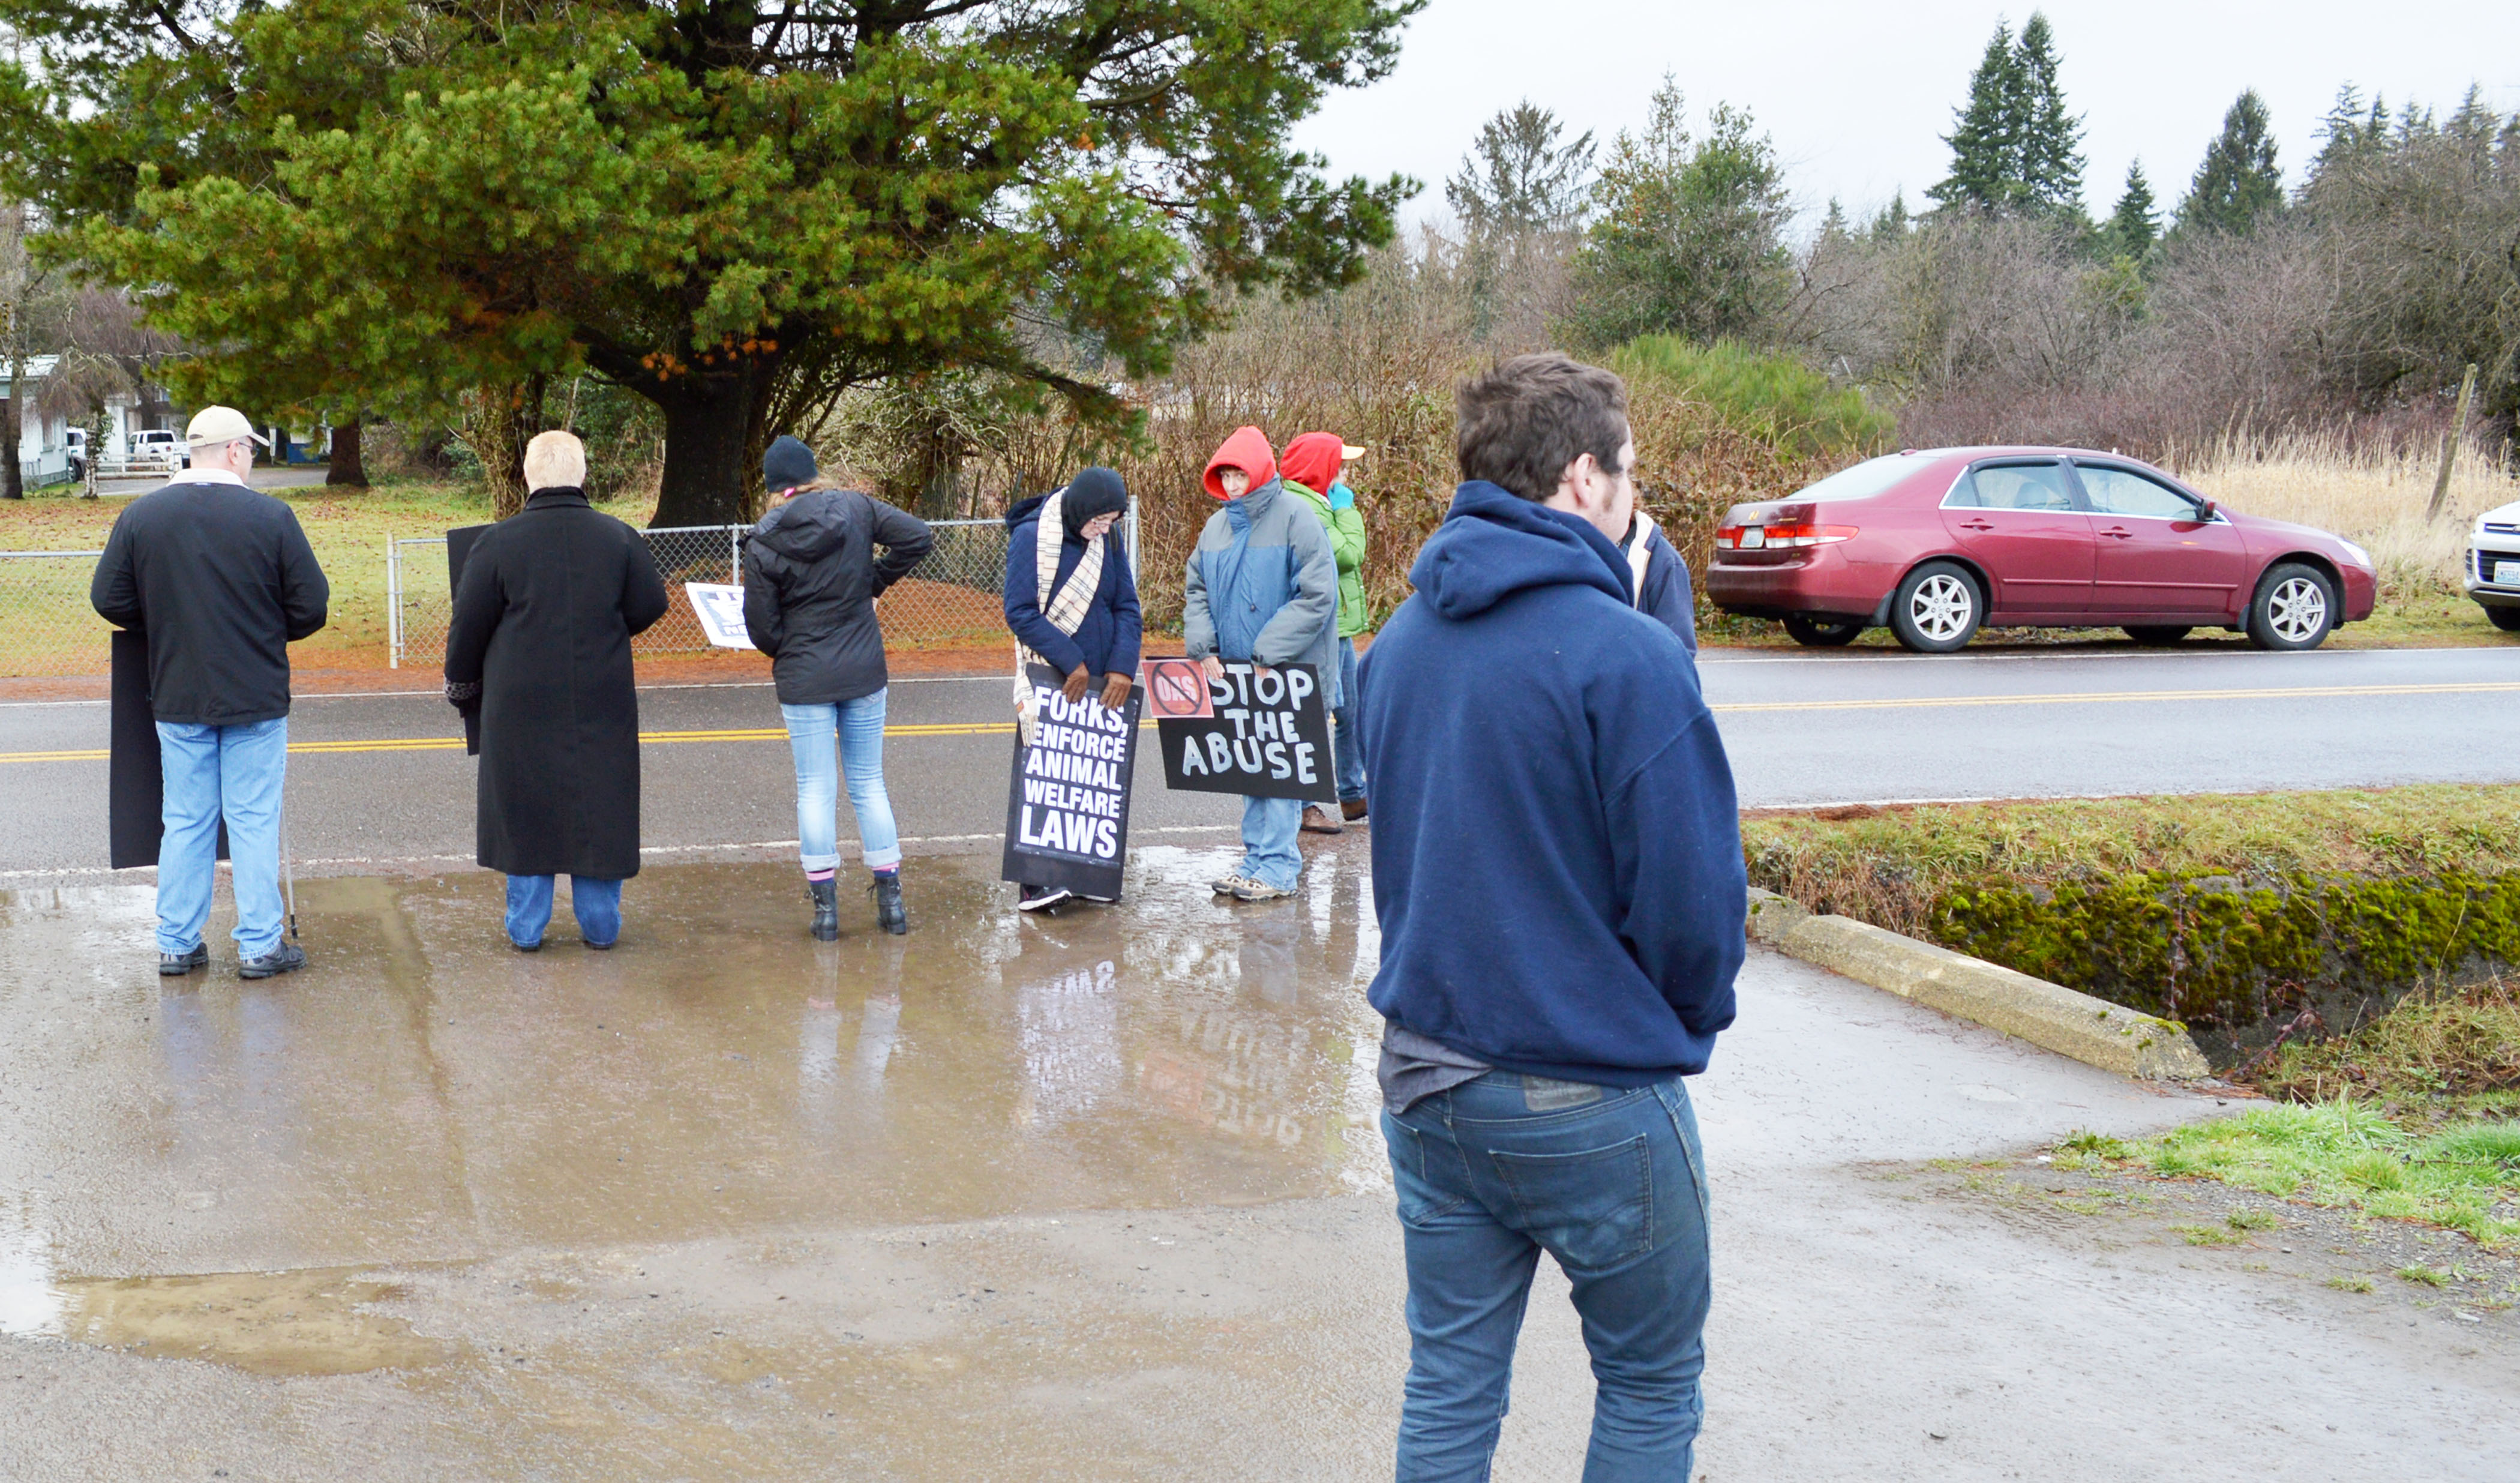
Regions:
<svg viewBox="0 0 2520 1483"><path fill-rule="evenodd" d="M2019 40L1998 20L1943 136L1950 177L1925 194L1943 209L2082 219L2082 119L2066 111L2059 71L2046 13L2031 13Z"/></svg>

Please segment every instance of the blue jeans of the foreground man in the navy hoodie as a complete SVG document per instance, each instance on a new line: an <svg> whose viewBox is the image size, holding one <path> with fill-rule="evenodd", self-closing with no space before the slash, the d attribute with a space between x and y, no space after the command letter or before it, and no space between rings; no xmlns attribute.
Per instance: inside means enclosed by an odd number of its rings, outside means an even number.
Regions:
<svg viewBox="0 0 2520 1483"><path fill-rule="evenodd" d="M1706 1163L1678 1079L1489 1072L1383 1115L1409 1253L1399 1480L1487 1478L1547 1251L1593 1352L1585 1483L1688 1478L1706 1367Z"/></svg>

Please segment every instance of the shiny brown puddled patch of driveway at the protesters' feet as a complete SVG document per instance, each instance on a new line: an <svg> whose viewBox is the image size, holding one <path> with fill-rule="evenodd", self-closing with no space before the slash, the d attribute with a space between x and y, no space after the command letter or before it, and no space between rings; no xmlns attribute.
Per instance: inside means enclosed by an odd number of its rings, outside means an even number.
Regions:
<svg viewBox="0 0 2520 1483"><path fill-rule="evenodd" d="M839 943L794 868L653 868L610 953L564 905L512 951L489 873L307 880L315 966L262 984L224 918L161 981L146 888L0 893L0 1332L421 1364L426 1266L1376 1178L1363 850L1273 910L1215 850L1056 918L990 865L912 863L912 936L859 898Z"/></svg>

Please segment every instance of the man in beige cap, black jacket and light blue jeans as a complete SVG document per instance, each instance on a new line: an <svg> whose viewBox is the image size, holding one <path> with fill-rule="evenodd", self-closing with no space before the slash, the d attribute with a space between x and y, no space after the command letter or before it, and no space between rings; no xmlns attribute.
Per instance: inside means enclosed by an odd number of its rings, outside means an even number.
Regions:
<svg viewBox="0 0 2520 1483"><path fill-rule="evenodd" d="M249 489L255 424L204 406L184 431L192 469L113 522L88 600L149 638L149 711L164 769L159 974L209 963L202 931L219 820L237 888L237 974L270 979L307 956L280 938L280 792L290 749L290 643L333 598L297 512Z"/></svg>

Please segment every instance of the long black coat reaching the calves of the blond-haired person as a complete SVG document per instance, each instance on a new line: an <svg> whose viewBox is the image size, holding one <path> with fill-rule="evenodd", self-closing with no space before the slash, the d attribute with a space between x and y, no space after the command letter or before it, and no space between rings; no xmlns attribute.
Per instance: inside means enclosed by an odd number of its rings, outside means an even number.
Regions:
<svg viewBox="0 0 2520 1483"><path fill-rule="evenodd" d="M630 636L663 615L648 542L577 489L537 489L474 542L446 683L481 686L481 865L638 875Z"/></svg>

